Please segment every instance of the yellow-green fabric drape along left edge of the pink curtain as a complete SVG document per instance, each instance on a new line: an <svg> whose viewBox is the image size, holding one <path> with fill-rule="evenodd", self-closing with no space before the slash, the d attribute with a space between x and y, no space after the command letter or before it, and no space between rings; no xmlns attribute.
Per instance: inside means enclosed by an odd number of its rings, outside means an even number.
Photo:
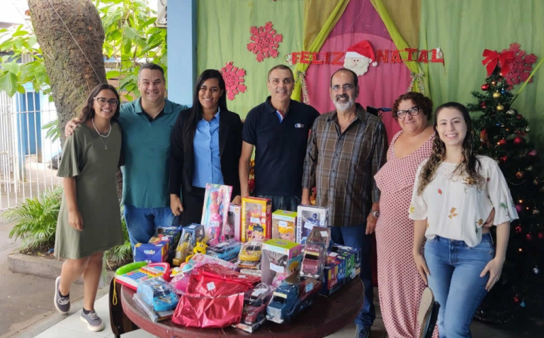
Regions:
<svg viewBox="0 0 544 338"><path fill-rule="evenodd" d="M319 52L325 40L331 33L332 28L336 26L339 18L344 13L348 6L349 0L305 0L304 1L304 18L305 18L305 33L303 48L306 52ZM329 13L327 16L325 13ZM324 20L324 18L327 18ZM324 22L323 22L324 21ZM319 32L316 34L316 32ZM305 84L306 69L310 64L297 63L295 65L295 89L291 98L300 101L302 84ZM307 89L304 89L307 91ZM305 98L306 99L306 98ZM310 103L309 101L304 101Z"/></svg>

